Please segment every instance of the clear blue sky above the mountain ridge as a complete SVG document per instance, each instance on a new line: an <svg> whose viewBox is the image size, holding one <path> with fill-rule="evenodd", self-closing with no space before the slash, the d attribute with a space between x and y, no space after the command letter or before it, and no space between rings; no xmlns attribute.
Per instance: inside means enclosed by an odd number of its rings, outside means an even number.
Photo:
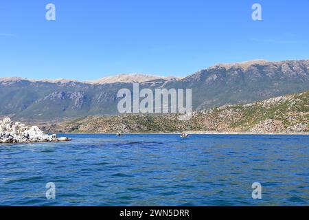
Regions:
<svg viewBox="0 0 309 220"><path fill-rule="evenodd" d="M46 21L47 3L56 21ZM253 3L262 21L251 19ZM0 2L0 77L187 76L216 63L308 53L308 0Z"/></svg>

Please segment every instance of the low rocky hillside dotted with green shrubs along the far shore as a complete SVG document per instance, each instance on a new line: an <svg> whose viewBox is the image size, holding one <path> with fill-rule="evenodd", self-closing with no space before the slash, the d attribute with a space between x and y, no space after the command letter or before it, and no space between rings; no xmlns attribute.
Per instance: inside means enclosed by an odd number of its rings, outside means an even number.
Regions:
<svg viewBox="0 0 309 220"><path fill-rule="evenodd" d="M194 112L192 119L177 114L88 116L45 126L45 131L136 133L214 131L249 133L308 133L309 91L251 104L225 105Z"/></svg>

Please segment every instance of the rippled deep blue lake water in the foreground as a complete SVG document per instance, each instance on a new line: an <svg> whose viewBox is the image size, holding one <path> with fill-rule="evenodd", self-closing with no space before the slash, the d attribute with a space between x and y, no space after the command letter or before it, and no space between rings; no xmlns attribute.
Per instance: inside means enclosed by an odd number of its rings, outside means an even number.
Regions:
<svg viewBox="0 0 309 220"><path fill-rule="evenodd" d="M0 206L309 205L309 135L66 136L0 145Z"/></svg>

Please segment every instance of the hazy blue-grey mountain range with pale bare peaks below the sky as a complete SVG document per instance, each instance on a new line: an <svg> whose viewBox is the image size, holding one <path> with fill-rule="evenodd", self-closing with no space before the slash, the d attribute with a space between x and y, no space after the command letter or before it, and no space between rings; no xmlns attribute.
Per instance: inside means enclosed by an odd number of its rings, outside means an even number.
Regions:
<svg viewBox="0 0 309 220"><path fill-rule="evenodd" d="M309 89L309 60L219 64L185 78L119 75L100 80L0 78L0 115L54 120L115 115L117 91L133 88L192 89L194 110L249 103Z"/></svg>

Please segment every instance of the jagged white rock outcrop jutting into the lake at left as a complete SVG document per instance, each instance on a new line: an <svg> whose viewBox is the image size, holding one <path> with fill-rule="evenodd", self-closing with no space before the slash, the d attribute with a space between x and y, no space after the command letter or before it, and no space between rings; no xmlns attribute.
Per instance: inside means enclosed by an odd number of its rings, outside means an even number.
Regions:
<svg viewBox="0 0 309 220"><path fill-rule="evenodd" d="M25 126L19 122L12 122L10 118L0 120L0 143L25 142L60 142L69 141L67 137L46 135L38 126Z"/></svg>

